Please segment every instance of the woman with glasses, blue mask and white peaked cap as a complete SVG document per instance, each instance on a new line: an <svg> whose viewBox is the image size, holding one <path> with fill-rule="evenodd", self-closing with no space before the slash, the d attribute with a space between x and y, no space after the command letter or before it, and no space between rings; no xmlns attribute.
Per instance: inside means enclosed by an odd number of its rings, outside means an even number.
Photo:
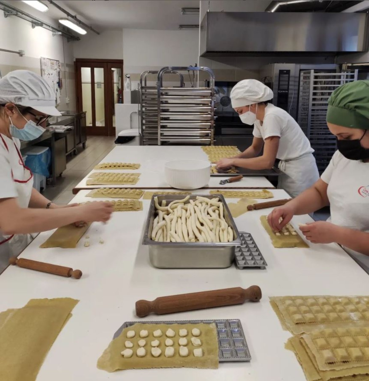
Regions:
<svg viewBox="0 0 369 381"><path fill-rule="evenodd" d="M39 75L15 70L0 80L0 272L11 256L29 243L29 234L78 221L107 221L110 203L66 208L50 202L33 187L33 175L24 165L21 140L38 138L55 108L55 94Z"/></svg>

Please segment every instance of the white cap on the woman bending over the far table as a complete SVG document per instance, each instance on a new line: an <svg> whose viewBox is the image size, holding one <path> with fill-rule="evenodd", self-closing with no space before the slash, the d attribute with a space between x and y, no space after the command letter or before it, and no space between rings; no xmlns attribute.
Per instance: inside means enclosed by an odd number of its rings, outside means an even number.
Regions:
<svg viewBox="0 0 369 381"><path fill-rule="evenodd" d="M244 79L236 83L231 91L233 108L266 102L270 99L273 99L273 91L256 79Z"/></svg>

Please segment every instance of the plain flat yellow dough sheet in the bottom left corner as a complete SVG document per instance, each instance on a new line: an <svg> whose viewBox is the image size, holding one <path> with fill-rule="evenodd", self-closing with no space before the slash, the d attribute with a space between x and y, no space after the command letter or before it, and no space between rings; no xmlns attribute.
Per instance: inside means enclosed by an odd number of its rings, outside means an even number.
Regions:
<svg viewBox="0 0 369 381"><path fill-rule="evenodd" d="M78 300L31 299L0 314L0 380L34 381Z"/></svg>

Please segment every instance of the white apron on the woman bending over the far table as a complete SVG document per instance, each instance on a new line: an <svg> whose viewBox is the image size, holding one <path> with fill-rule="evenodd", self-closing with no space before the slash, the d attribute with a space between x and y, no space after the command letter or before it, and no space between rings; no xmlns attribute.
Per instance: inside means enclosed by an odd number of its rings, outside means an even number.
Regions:
<svg viewBox="0 0 369 381"><path fill-rule="evenodd" d="M278 168L284 175L278 178L278 189L284 189L292 197L310 188L319 179L319 172L313 154L306 154L293 160L281 160Z"/></svg>

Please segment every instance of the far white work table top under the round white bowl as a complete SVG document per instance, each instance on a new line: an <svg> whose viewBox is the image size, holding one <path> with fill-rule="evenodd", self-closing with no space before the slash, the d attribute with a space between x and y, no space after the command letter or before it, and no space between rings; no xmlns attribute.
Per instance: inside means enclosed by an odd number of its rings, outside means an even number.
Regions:
<svg viewBox="0 0 369 381"><path fill-rule="evenodd" d="M81 189L96 188L137 188L137 189L171 189L164 178L164 165L170 160L194 159L208 161L208 156L199 146L118 146L101 160L101 163L126 162L139 163L138 170L94 170L92 172L141 173L135 185L86 185L88 176L83 178L73 189L77 194ZM264 176L244 176L241 181L219 185L219 181L229 176L211 176L209 184L203 189L216 188L256 188L274 189L273 184Z"/></svg>

